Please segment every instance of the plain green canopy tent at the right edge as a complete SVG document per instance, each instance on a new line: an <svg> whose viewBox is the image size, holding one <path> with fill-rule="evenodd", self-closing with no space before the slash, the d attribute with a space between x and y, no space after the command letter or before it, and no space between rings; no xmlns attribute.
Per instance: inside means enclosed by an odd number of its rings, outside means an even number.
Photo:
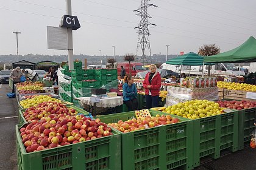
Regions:
<svg viewBox="0 0 256 170"><path fill-rule="evenodd" d="M256 62L256 39L251 36L241 46L217 55L205 56L208 63L251 63Z"/></svg>

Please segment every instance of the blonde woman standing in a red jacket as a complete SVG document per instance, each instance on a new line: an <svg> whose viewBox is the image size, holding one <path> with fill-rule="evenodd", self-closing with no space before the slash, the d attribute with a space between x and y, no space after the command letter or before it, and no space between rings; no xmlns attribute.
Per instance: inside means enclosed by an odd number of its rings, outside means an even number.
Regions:
<svg viewBox="0 0 256 170"><path fill-rule="evenodd" d="M161 76L157 72L157 66L151 64L149 66L150 72L146 74L143 81L143 87L146 94L147 109L158 107L158 98L161 87Z"/></svg>

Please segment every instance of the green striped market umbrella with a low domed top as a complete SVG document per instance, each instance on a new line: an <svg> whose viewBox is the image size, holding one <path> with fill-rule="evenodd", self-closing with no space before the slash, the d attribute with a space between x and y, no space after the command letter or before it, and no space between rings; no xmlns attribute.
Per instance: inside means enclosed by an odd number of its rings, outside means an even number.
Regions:
<svg viewBox="0 0 256 170"><path fill-rule="evenodd" d="M204 63L204 57L193 52L189 52L184 55L179 55L176 58L172 58L171 60L166 61L166 64L181 66L180 74L181 74L182 66L212 65L212 63Z"/></svg>

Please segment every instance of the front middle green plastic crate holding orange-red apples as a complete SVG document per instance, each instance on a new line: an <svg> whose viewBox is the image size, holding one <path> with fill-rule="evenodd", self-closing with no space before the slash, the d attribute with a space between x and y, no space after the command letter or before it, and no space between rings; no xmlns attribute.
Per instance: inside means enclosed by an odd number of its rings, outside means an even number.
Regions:
<svg viewBox="0 0 256 170"><path fill-rule="evenodd" d="M158 112L151 111L155 116ZM105 123L128 120L134 112L98 116ZM164 114L166 115L166 114ZM177 117L173 115L173 117ZM180 118L180 117L179 117ZM122 169L193 169L192 121L121 133Z"/></svg>

